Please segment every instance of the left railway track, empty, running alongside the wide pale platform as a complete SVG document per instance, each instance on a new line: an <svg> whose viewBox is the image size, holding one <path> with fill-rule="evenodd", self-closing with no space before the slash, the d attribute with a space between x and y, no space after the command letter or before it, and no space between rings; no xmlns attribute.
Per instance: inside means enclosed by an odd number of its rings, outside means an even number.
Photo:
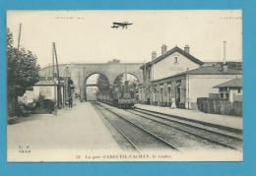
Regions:
<svg viewBox="0 0 256 176"><path fill-rule="evenodd" d="M126 139L134 150L138 152L147 149L180 151L174 144L165 141L160 136L121 116L110 108L99 103L95 103L95 105L102 116Z"/></svg>

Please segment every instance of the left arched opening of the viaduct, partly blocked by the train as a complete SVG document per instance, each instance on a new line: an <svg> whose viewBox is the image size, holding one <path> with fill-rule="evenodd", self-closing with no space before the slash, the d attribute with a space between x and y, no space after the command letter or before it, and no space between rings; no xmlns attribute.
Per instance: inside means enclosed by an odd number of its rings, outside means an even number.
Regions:
<svg viewBox="0 0 256 176"><path fill-rule="evenodd" d="M85 99L96 101L99 91L109 91L108 79L102 74L92 74L85 81Z"/></svg>

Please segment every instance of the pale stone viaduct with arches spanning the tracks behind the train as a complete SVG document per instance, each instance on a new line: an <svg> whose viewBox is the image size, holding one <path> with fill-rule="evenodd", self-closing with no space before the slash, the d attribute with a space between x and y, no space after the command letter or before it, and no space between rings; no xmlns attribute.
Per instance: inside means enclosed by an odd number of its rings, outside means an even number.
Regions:
<svg viewBox="0 0 256 176"><path fill-rule="evenodd" d="M115 79L124 74L135 76L139 83L143 83L143 71L140 67L143 63L83 63L60 64L60 77L71 77L74 82L75 92L80 92L85 98L87 79L94 74L101 74L113 85ZM52 77L52 66L47 66L39 71L40 77Z"/></svg>

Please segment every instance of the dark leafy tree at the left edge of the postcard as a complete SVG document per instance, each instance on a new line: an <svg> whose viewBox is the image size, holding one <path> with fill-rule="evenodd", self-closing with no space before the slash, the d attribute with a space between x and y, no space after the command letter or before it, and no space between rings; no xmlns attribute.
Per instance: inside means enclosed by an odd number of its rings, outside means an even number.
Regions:
<svg viewBox="0 0 256 176"><path fill-rule="evenodd" d="M13 34L7 30L8 60L8 110L9 115L17 115L20 108L18 96L22 96L27 88L39 81L39 65L32 51L13 46Z"/></svg>

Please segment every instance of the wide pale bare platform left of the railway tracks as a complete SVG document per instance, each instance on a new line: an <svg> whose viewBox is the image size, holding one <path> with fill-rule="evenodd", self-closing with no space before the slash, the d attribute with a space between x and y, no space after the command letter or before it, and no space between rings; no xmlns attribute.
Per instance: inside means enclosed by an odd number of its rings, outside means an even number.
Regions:
<svg viewBox="0 0 256 176"><path fill-rule="evenodd" d="M80 161L121 150L89 102L26 118L7 127L8 161Z"/></svg>

